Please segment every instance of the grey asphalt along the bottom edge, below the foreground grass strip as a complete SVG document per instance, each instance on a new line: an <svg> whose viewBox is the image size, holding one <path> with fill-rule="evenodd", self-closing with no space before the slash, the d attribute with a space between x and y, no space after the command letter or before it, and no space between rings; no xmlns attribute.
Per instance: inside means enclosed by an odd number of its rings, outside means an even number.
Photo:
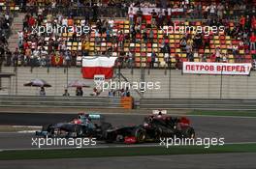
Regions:
<svg viewBox="0 0 256 169"><path fill-rule="evenodd" d="M8 169L255 169L256 154L158 155L0 161Z"/></svg>

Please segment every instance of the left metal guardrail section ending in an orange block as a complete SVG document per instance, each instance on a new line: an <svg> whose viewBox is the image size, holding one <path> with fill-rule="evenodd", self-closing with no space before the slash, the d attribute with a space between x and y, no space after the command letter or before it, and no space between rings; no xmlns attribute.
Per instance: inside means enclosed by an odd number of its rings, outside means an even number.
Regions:
<svg viewBox="0 0 256 169"><path fill-rule="evenodd" d="M132 109L132 98L1 96L0 107L123 108Z"/></svg>

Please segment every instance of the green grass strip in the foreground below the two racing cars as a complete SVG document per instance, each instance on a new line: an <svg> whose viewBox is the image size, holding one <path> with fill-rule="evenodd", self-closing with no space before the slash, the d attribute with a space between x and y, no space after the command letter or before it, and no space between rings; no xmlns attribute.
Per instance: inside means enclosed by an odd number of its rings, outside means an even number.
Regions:
<svg viewBox="0 0 256 169"><path fill-rule="evenodd" d="M256 144L229 144L211 146L172 146L165 147L122 147L122 148L92 148L63 150L20 150L0 152L0 160L14 159L52 159L107 156L137 156L137 155L199 155L224 153L256 153Z"/></svg>

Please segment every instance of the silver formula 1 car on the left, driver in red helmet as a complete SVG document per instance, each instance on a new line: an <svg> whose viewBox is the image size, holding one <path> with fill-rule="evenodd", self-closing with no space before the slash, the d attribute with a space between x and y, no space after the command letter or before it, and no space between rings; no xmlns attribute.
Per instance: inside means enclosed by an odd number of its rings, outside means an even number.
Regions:
<svg viewBox="0 0 256 169"><path fill-rule="evenodd" d="M93 120L101 120L100 124ZM98 114L79 114L77 119L68 123L58 123L42 127L41 131L36 131L38 136L48 137L94 137L102 139L102 136L111 124L103 122Z"/></svg>

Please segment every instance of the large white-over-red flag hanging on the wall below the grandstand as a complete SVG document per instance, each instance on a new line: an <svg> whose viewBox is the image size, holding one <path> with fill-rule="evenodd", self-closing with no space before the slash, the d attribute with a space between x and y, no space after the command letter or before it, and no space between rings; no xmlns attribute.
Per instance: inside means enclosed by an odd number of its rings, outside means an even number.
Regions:
<svg viewBox="0 0 256 169"><path fill-rule="evenodd" d="M95 74L103 74L106 79L112 78L113 66L116 57L91 57L82 58L82 77L93 79Z"/></svg>

